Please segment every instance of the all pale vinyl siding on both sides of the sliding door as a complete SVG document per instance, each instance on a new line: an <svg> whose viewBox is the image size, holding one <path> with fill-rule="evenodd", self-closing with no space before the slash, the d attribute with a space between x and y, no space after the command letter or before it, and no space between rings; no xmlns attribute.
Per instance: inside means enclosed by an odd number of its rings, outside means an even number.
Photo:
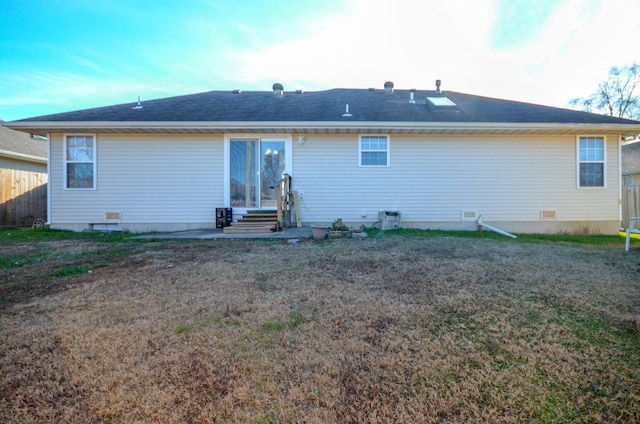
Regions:
<svg viewBox="0 0 640 424"><path fill-rule="evenodd" d="M358 166L357 134L304 138L293 143L291 175L304 193L305 225L342 218L370 226L378 211L397 210L406 227L472 229L462 212L476 211L507 231L565 231L539 225L548 224L541 210L554 210L553 223L605 222L617 231L616 136L606 142L606 188L586 189L577 187L574 135L390 135L388 167ZM97 134L96 143L97 188L65 190L63 136L52 135L52 225L81 229L120 212L123 228L213 226L215 208L228 202L222 135Z"/></svg>

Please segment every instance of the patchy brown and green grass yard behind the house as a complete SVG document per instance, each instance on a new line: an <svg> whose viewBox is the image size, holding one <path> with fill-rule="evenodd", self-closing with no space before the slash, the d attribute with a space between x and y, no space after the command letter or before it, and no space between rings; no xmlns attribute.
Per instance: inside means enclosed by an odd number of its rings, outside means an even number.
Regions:
<svg viewBox="0 0 640 424"><path fill-rule="evenodd" d="M639 243L558 240L1 230L0 423L639 422Z"/></svg>

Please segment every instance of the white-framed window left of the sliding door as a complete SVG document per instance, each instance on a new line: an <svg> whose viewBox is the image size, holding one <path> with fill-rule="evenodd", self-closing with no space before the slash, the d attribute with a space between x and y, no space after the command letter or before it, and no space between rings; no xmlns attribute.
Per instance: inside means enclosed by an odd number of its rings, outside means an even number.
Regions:
<svg viewBox="0 0 640 424"><path fill-rule="evenodd" d="M93 135L65 137L65 188L96 187L96 149Z"/></svg>

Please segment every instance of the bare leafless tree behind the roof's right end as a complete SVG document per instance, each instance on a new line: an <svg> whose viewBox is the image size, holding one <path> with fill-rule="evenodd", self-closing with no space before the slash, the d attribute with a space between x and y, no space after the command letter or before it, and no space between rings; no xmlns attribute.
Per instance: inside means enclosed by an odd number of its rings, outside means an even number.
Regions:
<svg viewBox="0 0 640 424"><path fill-rule="evenodd" d="M569 104L585 112L640 120L640 65L612 67L594 93L571 99Z"/></svg>

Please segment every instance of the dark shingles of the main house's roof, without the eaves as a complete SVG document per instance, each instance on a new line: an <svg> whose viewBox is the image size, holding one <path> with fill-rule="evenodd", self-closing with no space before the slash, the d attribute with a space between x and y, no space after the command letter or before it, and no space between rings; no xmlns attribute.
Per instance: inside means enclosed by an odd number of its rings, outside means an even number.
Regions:
<svg viewBox="0 0 640 424"><path fill-rule="evenodd" d="M427 97L446 96L456 106L435 108ZM640 124L628 119L453 91L333 89L315 92L210 91L136 103L40 116L14 122L434 122ZM351 117L343 117L345 105Z"/></svg>

